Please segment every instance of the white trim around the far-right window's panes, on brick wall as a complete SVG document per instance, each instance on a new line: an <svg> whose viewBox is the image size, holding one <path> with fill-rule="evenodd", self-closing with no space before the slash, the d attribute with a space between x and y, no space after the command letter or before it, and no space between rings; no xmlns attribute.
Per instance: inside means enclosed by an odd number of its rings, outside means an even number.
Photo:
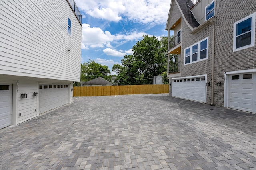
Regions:
<svg viewBox="0 0 256 170"><path fill-rule="evenodd" d="M252 18L252 28L251 28L251 44L249 45L246 45L246 46L243 46L243 47L240 47L240 48L236 48L236 25L238 23L241 23L242 21L244 20L247 20L249 18ZM246 48L249 48L249 47L253 47L255 45L255 12L245 18L242 18L241 20L239 21L236 21L233 25L233 52L235 51L239 51L239 50L242 50L242 49L246 49Z"/></svg>

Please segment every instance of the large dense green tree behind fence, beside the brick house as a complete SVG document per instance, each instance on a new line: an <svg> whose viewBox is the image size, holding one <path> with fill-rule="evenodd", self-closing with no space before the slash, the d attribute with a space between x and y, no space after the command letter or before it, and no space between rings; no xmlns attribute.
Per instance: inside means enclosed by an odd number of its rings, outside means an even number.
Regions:
<svg viewBox="0 0 256 170"><path fill-rule="evenodd" d="M168 38L143 35L143 39L132 47L133 55L125 55L122 66L116 64L118 85L153 84L153 76L158 76L167 70Z"/></svg>

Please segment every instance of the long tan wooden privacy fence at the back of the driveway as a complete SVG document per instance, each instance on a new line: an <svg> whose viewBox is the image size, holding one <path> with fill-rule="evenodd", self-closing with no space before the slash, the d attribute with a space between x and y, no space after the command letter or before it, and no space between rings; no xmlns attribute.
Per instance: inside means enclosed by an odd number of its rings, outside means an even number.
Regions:
<svg viewBox="0 0 256 170"><path fill-rule="evenodd" d="M124 94L169 93L169 85L89 86L74 87L73 96L110 96Z"/></svg>

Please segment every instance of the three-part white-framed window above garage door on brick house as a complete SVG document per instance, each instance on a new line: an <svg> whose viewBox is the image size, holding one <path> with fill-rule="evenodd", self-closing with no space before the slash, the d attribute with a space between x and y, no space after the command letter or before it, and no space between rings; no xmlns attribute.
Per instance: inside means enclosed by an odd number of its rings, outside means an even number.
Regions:
<svg viewBox="0 0 256 170"><path fill-rule="evenodd" d="M208 39L202 39L184 50L184 65L208 59Z"/></svg>

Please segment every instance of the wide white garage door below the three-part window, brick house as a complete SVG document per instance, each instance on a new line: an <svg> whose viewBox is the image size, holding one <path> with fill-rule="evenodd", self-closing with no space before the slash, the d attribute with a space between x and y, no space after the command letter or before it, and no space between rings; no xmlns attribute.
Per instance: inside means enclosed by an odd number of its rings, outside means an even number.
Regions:
<svg viewBox="0 0 256 170"><path fill-rule="evenodd" d="M205 86L205 76L173 79L172 96L205 103Z"/></svg>

